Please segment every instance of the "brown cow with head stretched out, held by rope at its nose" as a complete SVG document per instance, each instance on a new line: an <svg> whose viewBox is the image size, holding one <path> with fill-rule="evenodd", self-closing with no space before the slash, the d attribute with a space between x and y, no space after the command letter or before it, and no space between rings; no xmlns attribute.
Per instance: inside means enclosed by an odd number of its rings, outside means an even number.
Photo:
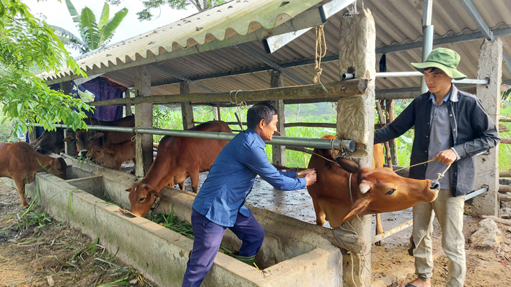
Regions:
<svg viewBox="0 0 511 287"><path fill-rule="evenodd" d="M332 158L331 150L314 152ZM316 183L307 189L320 226L328 220L336 228L357 215L400 211L420 202L432 202L439 192L440 184L435 180L407 179L388 167L358 169L347 158L338 158L337 162L341 167L313 155L308 164L317 172Z"/></svg>

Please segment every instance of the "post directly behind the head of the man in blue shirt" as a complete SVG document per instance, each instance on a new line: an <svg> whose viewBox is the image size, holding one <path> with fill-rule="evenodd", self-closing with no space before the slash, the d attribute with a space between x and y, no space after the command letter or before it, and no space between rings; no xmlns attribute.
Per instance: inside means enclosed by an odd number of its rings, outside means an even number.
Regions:
<svg viewBox="0 0 511 287"><path fill-rule="evenodd" d="M281 71L278 69L270 70L270 75L272 76L269 82L269 88L280 88L284 86L284 76ZM278 122L277 122L277 131L285 136L284 122L284 100L278 99L276 101L272 101L272 106L274 106L277 110ZM272 145L272 163L274 165L285 165L285 146L283 145Z"/></svg>

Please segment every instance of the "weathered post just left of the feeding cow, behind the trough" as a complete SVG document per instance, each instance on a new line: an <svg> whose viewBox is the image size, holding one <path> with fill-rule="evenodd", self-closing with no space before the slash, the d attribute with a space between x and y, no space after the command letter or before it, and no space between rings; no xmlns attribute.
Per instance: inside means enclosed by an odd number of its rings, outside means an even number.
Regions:
<svg viewBox="0 0 511 287"><path fill-rule="evenodd" d="M150 97L151 74L148 65L135 67L135 97ZM152 104L135 105L135 127L152 128ZM143 177L152 165L152 135L136 135L135 176Z"/></svg>

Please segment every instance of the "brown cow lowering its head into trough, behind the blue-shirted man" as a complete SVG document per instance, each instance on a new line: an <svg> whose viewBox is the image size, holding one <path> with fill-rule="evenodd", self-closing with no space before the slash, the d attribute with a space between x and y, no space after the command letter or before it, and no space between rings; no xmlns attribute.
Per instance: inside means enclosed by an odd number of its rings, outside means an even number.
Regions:
<svg viewBox="0 0 511 287"><path fill-rule="evenodd" d="M211 121L199 124L189 131L214 131L232 133L228 124ZM190 177L191 189L198 192L198 174L210 170L227 140L209 140L203 138L181 138L166 136L159 142L154 163L140 183L128 188L132 213L146 216L156 197L166 186L179 184L184 190L184 180Z"/></svg>

